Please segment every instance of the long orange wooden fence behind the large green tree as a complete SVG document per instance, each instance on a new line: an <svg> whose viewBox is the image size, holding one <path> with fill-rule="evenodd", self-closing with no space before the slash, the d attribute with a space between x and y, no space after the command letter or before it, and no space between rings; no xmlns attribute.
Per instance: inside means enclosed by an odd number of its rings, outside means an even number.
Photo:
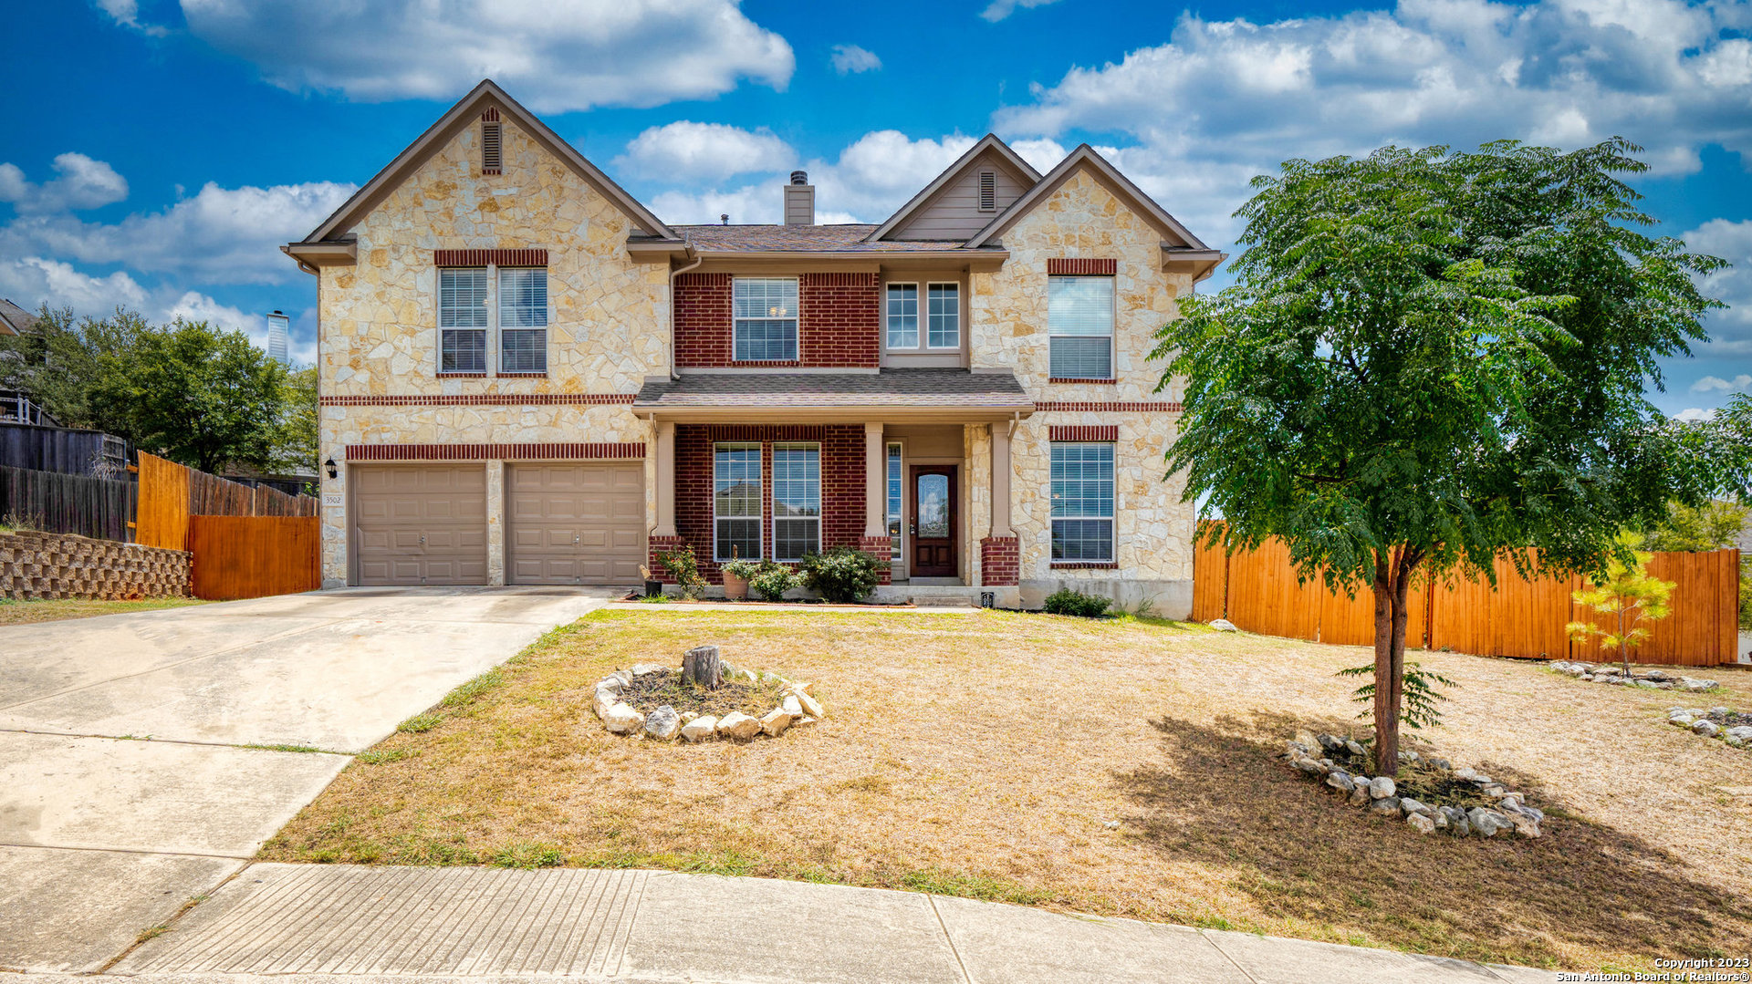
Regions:
<svg viewBox="0 0 1752 984"><path fill-rule="evenodd" d="M1673 613L1649 625L1650 637L1631 650L1635 662L1736 662L1740 552L1656 553L1649 573L1675 583ZM1487 657L1605 658L1596 641L1572 643L1563 630L1570 622L1596 618L1570 597L1584 581L1579 576L1529 581L1508 559L1500 559L1494 588L1482 578L1414 587L1405 644ZM1193 618L1228 618L1261 636L1342 646L1375 641L1374 594L1365 588L1346 597L1326 590L1321 580L1302 583L1281 541L1233 555L1225 555L1223 546L1200 546L1193 559Z"/></svg>

